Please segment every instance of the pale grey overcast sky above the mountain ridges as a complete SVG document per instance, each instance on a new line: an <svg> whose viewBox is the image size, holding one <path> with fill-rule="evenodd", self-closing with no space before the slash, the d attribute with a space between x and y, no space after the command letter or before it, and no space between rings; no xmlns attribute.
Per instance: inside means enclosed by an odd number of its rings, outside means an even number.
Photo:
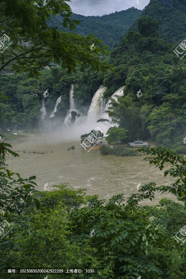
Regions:
<svg viewBox="0 0 186 279"><path fill-rule="evenodd" d="M136 1L141 4L137 4ZM67 4L75 14L102 16L132 7L143 10L149 2L150 0L71 0Z"/></svg>

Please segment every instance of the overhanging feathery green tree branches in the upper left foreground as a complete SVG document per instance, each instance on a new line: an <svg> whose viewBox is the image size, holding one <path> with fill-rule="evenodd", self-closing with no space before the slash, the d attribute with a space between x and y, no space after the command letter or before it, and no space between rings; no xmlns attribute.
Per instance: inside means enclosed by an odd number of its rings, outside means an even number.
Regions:
<svg viewBox="0 0 186 279"><path fill-rule="evenodd" d="M69 0L67 0L69 1ZM70 6L63 0L49 1L43 5L42 1L28 0L1 1L0 29L5 46L0 55L0 70L11 65L17 73L29 72L30 76L38 76L39 70L50 62L61 64L63 69L76 72L76 66L81 65L84 70L90 69L106 71L110 66L101 62L96 55L109 53L102 41L93 35L84 38L81 35L62 32L58 27L47 25L51 15L63 16L63 27L75 30L79 20L72 20ZM8 37L7 37L8 36ZM9 38L9 39L8 39ZM9 46L8 41L11 41ZM96 44L94 52L90 45Z"/></svg>

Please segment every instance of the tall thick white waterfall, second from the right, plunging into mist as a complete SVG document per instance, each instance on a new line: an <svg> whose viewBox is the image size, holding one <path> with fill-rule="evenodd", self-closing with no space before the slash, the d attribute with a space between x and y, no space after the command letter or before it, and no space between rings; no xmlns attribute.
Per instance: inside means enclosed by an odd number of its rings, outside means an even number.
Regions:
<svg viewBox="0 0 186 279"><path fill-rule="evenodd" d="M105 100L103 100L103 93L105 92L106 87L100 86L96 93L93 96L89 111L87 114L87 120L97 120L102 116L105 110Z"/></svg>

